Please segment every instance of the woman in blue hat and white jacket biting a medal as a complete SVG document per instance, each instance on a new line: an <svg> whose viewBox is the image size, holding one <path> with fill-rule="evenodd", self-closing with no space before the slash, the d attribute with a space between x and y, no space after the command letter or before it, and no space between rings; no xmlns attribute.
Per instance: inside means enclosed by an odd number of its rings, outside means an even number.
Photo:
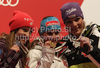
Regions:
<svg viewBox="0 0 100 68"><path fill-rule="evenodd" d="M27 56L27 68L67 68L64 59L55 56L55 47L60 39L60 22L56 17L47 16L40 23L39 34Z"/></svg>

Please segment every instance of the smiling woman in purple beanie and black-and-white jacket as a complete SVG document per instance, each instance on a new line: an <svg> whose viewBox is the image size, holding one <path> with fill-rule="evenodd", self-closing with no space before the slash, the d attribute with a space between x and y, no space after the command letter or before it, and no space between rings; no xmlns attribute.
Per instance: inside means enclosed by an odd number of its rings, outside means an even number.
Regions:
<svg viewBox="0 0 100 68"><path fill-rule="evenodd" d="M63 53L70 68L99 68L100 67L100 26L90 24L85 27L84 15L77 2L69 2L61 7L61 15L64 24L71 27L69 37L66 40L68 49ZM91 41L92 40L92 41ZM92 55L92 59L91 56ZM95 60L94 60L95 59Z"/></svg>

